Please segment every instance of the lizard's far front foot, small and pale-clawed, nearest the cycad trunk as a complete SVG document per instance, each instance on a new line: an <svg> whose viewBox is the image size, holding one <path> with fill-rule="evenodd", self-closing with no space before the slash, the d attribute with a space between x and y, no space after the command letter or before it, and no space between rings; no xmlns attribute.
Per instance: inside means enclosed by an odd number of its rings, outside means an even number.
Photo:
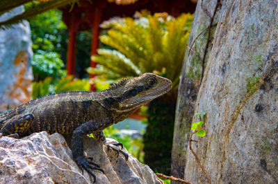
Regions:
<svg viewBox="0 0 278 184"><path fill-rule="evenodd" d="M121 142L117 142L115 144L107 144L106 143L106 138L104 136L104 131L97 131L97 132L92 133L92 135L94 135L95 139L103 141L104 145L106 145L108 150L109 149L113 149L114 151L116 151L117 152L117 156L119 156L119 154L121 153L124 156L126 161L129 159L129 154L127 154L126 152L122 151L123 145L122 145ZM117 146L120 146L122 148L120 149Z"/></svg>

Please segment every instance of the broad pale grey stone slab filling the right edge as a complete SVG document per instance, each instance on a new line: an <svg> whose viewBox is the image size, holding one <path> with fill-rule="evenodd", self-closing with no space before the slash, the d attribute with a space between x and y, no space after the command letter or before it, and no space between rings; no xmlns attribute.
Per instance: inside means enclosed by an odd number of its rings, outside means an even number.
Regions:
<svg viewBox="0 0 278 184"><path fill-rule="evenodd" d="M278 183L277 8L223 1L195 107L206 137L193 136L212 183ZM184 177L206 183L189 149Z"/></svg>

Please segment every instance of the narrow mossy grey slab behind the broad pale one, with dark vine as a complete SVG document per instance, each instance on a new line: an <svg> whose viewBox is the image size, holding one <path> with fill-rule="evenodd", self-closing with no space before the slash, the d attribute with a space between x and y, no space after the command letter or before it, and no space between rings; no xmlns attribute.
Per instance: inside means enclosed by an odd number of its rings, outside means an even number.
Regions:
<svg viewBox="0 0 278 184"><path fill-rule="evenodd" d="M181 69L174 122L171 173L177 178L183 178L190 125L194 116L199 84L202 81L204 67L211 50L211 41L219 12L218 0L204 0L197 3Z"/></svg>

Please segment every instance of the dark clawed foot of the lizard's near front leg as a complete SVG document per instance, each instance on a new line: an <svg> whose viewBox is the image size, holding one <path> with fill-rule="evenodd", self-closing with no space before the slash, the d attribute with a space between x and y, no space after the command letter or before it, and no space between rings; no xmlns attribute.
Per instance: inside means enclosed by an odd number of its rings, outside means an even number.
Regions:
<svg viewBox="0 0 278 184"><path fill-rule="evenodd" d="M92 158L92 157L90 157L90 158ZM88 172L90 175L92 175L92 177L94 177L94 183L96 181L96 176L90 169L95 169L95 170L98 170L98 171L104 173L104 169L101 169L97 163L94 163L93 161L88 160L84 156L77 157L75 159L75 161L76 161L77 165L79 166L79 168L81 169L82 174L83 174L83 170L85 169L86 172ZM95 165L95 167L93 167L92 165Z"/></svg>

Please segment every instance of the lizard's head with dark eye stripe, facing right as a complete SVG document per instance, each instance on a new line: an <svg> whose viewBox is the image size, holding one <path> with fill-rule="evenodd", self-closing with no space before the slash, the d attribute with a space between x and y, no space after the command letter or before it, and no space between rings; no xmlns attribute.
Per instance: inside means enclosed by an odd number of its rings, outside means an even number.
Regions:
<svg viewBox="0 0 278 184"><path fill-rule="evenodd" d="M172 82L154 73L144 73L115 86L113 92L118 102L118 110L129 111L138 109L170 91Z"/></svg>

